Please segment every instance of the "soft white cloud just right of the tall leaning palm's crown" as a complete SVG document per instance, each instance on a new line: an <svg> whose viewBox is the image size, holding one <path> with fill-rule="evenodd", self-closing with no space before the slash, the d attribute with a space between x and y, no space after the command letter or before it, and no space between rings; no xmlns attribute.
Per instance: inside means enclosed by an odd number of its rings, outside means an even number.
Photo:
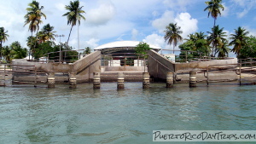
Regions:
<svg viewBox="0 0 256 144"><path fill-rule="evenodd" d="M113 19L115 8L113 3L101 3L96 9L90 9L87 12L86 20L95 26L104 25Z"/></svg>

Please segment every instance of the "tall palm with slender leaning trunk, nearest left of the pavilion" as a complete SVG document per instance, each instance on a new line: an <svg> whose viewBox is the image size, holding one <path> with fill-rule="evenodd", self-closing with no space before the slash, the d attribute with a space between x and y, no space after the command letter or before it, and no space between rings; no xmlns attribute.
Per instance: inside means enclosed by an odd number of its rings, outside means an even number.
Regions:
<svg viewBox="0 0 256 144"><path fill-rule="evenodd" d="M77 22L80 25L80 20L83 19L85 20L84 16L82 14L84 14L84 10L82 10L84 6L80 7L79 6L79 0L75 0L75 1L70 1L69 5L65 6L65 9L67 9L67 13L63 14L62 16L67 16L67 25L71 25L71 29L67 38L67 44L69 41L69 37L70 34L72 32L73 26L77 25Z"/></svg>

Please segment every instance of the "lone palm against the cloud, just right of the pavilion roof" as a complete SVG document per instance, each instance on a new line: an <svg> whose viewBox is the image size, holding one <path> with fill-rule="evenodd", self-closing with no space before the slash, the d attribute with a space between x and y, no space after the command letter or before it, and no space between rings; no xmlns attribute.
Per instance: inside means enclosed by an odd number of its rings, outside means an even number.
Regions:
<svg viewBox="0 0 256 144"><path fill-rule="evenodd" d="M177 23L170 23L169 26L166 26L166 35L165 40L168 41L168 44L173 43L173 54L174 48L177 46L177 42L183 41L183 37L180 36L183 32L180 30L181 27L177 26Z"/></svg>

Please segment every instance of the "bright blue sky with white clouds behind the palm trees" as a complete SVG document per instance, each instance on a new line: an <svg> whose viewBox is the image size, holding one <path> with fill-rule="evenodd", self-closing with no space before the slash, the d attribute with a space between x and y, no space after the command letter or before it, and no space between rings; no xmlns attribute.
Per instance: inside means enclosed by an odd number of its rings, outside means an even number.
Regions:
<svg viewBox="0 0 256 144"><path fill-rule="evenodd" d="M165 42L164 35L169 23L177 23L183 31L183 39L190 33L211 31L212 17L207 17L207 0L80 0L80 6L86 12L81 25L74 26L69 44L75 49L96 48L104 43L122 40L136 40L154 44L162 49L172 49ZM26 8L32 0L1 0L0 27L8 31L9 45L19 41L26 47L26 38L31 35L28 26L24 26ZM40 25L55 27L61 43L67 42L71 26L67 25L65 5L70 0L38 0L46 14L46 20ZM224 27L228 37L238 26L244 27L250 35L256 36L256 0L223 0L224 11L217 19L217 25ZM79 35L78 35L79 30ZM78 38L79 36L79 38ZM79 44L78 44L79 39ZM185 42L185 40L183 40ZM60 43L60 37L55 38ZM181 44L181 43L178 43ZM176 48L178 49L178 47ZM234 54L231 54L234 56Z"/></svg>

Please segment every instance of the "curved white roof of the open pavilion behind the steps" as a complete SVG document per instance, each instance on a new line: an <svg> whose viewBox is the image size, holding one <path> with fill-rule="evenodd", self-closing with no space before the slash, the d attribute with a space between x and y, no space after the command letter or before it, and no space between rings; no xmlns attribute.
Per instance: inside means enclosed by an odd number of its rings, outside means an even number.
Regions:
<svg viewBox="0 0 256 144"><path fill-rule="evenodd" d="M96 47L94 50L99 50L99 49L109 49L109 48L124 48L124 47L137 47L137 44L139 44L139 41L117 41L113 43L106 43L102 44L98 47ZM153 44L149 44L149 47L152 49L161 49L160 47L157 47Z"/></svg>

